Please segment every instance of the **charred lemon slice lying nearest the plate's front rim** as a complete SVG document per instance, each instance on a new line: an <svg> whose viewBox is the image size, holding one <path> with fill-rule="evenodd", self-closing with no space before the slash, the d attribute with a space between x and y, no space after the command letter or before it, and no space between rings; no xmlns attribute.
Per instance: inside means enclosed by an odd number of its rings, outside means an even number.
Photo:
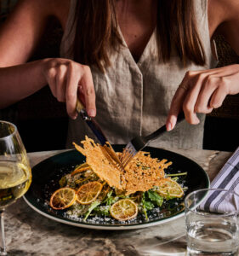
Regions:
<svg viewBox="0 0 239 256"><path fill-rule="evenodd" d="M111 216L120 221L134 218L138 214L138 207L134 201L122 199L111 206Z"/></svg>

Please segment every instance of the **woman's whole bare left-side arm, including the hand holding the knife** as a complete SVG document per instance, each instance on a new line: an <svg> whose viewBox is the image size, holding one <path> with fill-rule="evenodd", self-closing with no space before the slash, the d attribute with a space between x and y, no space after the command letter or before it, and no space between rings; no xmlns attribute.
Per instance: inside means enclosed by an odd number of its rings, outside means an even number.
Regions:
<svg viewBox="0 0 239 256"><path fill-rule="evenodd" d="M95 112L94 86L88 67L65 59L24 64L36 48L49 16L57 16L64 26L65 8L60 7L60 3L65 7L67 2L22 0L4 22L0 30L0 108L18 102L49 84L53 95L60 102L66 102L71 118L76 118L78 85L81 84L87 110Z"/></svg>

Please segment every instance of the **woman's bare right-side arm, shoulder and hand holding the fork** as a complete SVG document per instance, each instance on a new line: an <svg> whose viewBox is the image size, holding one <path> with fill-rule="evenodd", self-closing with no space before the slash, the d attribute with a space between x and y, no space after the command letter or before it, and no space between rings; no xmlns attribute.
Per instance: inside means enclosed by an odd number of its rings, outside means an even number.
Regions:
<svg viewBox="0 0 239 256"><path fill-rule="evenodd" d="M238 0L208 0L210 36L220 33L239 54ZM203 71L189 71L176 91L168 113L167 129L174 129L181 109L192 125L199 123L196 113L210 113L219 108L225 96L239 93L239 65Z"/></svg>

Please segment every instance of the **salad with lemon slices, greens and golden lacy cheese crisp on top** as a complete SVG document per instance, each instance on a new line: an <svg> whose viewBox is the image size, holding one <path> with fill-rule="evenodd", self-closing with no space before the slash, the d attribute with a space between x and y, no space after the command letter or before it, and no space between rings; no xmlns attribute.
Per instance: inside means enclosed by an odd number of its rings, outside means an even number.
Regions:
<svg viewBox="0 0 239 256"><path fill-rule="evenodd" d="M124 170L117 167L116 153L86 137L83 148L86 162L60 178L60 189L51 195L49 205L69 216L87 220L91 216L132 220L139 215L145 220L152 210L163 212L175 201L182 205L184 190L181 181L186 172L166 174L172 162L151 158L146 152L134 156ZM110 150L109 150L110 148ZM106 153L105 153L106 152Z"/></svg>

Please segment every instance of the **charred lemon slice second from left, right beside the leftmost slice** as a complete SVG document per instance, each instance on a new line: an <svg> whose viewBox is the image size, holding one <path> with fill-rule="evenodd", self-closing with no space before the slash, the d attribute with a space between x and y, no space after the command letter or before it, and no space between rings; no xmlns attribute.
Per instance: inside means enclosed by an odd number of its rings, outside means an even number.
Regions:
<svg viewBox="0 0 239 256"><path fill-rule="evenodd" d="M100 195L102 187L102 184L99 182L84 184L77 190L77 202L82 205L92 203Z"/></svg>

